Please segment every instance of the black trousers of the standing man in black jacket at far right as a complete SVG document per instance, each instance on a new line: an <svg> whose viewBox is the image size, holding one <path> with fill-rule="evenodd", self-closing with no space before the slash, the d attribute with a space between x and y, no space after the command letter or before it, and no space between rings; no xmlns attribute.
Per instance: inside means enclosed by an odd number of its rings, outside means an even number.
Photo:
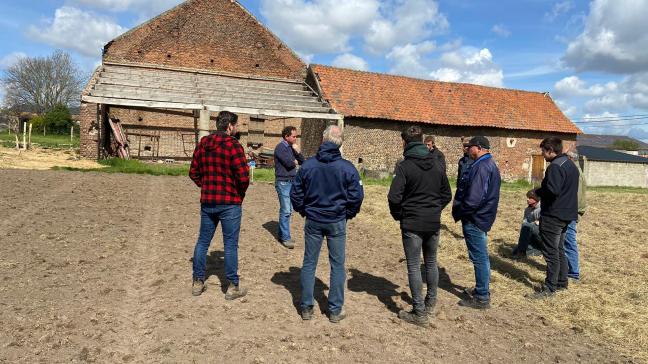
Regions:
<svg viewBox="0 0 648 364"><path fill-rule="evenodd" d="M555 217L542 216L540 219L540 238L542 254L547 262L545 286L551 292L567 288L567 257L565 256L565 233L570 221Z"/></svg>

